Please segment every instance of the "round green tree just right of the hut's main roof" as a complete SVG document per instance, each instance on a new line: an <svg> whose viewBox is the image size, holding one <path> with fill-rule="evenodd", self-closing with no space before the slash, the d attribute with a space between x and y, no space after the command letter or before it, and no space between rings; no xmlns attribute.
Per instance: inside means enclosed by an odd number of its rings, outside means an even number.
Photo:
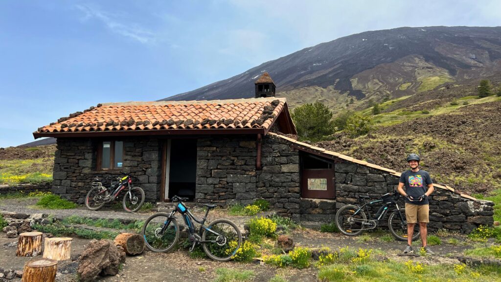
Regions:
<svg viewBox="0 0 501 282"><path fill-rule="evenodd" d="M295 108L292 118L298 129L298 135L303 139L319 141L334 132L332 112L321 102Z"/></svg>

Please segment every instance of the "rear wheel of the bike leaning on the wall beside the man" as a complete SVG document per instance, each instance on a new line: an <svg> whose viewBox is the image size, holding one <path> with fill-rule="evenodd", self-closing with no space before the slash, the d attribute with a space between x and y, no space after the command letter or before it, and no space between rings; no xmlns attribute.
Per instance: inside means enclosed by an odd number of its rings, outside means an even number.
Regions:
<svg viewBox="0 0 501 282"><path fill-rule="evenodd" d="M366 220L367 217L362 210L354 215L357 210L357 206L346 205L344 207L341 207L336 213L336 225L343 234L348 236L356 236L362 233L363 224L360 220Z"/></svg>

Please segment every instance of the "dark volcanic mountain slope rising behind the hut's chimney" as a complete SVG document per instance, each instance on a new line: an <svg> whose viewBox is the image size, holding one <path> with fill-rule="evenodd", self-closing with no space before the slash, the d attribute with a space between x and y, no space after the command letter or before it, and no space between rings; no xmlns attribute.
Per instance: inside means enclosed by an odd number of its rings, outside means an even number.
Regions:
<svg viewBox="0 0 501 282"><path fill-rule="evenodd" d="M305 48L231 78L163 100L254 96L270 73L281 96L330 89L331 96L399 97L501 71L501 27L424 27L369 31ZM303 90L301 90L303 89Z"/></svg>

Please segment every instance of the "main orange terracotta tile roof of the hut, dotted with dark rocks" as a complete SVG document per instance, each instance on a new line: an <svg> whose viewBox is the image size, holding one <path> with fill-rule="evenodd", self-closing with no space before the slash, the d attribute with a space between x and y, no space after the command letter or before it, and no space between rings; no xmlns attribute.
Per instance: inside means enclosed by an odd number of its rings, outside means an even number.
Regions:
<svg viewBox="0 0 501 282"><path fill-rule="evenodd" d="M155 129L269 129L285 98L99 104L63 117L35 133Z"/></svg>

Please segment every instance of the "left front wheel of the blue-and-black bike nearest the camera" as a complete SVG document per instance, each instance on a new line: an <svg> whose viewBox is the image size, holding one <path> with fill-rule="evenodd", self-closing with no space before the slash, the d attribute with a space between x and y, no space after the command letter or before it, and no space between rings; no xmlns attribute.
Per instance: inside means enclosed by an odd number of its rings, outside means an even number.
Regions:
<svg viewBox="0 0 501 282"><path fill-rule="evenodd" d="M167 227L164 227L165 224L168 224ZM166 252L172 249L179 239L179 226L175 218L169 218L169 214L159 212L146 219L141 234L150 251Z"/></svg>

